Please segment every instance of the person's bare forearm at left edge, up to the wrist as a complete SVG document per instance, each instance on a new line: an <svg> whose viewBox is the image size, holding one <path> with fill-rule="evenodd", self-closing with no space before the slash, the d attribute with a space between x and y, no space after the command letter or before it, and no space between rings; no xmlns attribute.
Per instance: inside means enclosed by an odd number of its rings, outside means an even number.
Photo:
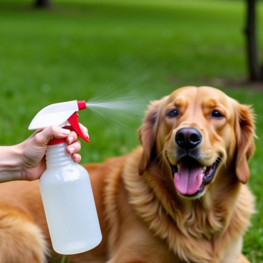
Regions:
<svg viewBox="0 0 263 263"><path fill-rule="evenodd" d="M19 147L0 146L0 183L21 179Z"/></svg>

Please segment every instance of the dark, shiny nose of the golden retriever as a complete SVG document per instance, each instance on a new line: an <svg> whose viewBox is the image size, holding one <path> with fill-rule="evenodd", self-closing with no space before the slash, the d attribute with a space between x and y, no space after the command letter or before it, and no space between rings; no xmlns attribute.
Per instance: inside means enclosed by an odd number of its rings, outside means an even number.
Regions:
<svg viewBox="0 0 263 263"><path fill-rule="evenodd" d="M175 141L181 148L193 149L202 141L202 135L198 129L181 128L175 134Z"/></svg>

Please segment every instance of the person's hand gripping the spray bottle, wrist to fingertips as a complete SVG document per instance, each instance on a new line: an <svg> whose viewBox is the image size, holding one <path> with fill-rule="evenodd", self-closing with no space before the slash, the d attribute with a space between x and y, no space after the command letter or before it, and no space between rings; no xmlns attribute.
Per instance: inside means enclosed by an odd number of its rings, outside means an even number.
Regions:
<svg viewBox="0 0 263 263"><path fill-rule="evenodd" d="M89 138L88 129L79 124L82 132ZM69 144L66 152L71 154L74 162L80 162L81 156L77 153L81 148L80 141L75 131L50 126L44 130L37 130L27 140L16 145L21 159L21 180L32 181L39 179L46 169L45 152L50 139L66 138Z"/></svg>

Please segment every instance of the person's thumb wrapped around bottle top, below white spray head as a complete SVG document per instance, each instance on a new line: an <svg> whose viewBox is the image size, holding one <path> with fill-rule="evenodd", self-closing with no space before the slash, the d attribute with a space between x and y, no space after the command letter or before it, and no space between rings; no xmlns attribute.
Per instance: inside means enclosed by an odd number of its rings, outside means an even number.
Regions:
<svg viewBox="0 0 263 263"><path fill-rule="evenodd" d="M51 139L66 138L69 134L69 129L63 129L58 126L52 125L35 135L35 144L38 146L46 146Z"/></svg>

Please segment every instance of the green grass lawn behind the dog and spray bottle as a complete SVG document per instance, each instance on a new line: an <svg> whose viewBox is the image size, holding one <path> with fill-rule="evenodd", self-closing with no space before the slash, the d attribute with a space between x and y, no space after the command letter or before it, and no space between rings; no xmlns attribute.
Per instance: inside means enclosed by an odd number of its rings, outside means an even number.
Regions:
<svg viewBox="0 0 263 263"><path fill-rule="evenodd" d="M31 1L0 3L0 144L31 134L27 127L44 106L88 100L100 90L160 98L183 85L246 75L245 1L59 0L51 11ZM263 4L259 4L259 24ZM263 34L259 36L263 48ZM218 82L219 83L219 82ZM263 92L214 85L241 103L254 104L257 150L250 162L250 188L258 213L243 252L263 262ZM142 105L144 106L144 104ZM145 107L144 107L145 108ZM82 143L82 163L128 153L138 144L141 119L103 122L80 113L91 143Z"/></svg>

